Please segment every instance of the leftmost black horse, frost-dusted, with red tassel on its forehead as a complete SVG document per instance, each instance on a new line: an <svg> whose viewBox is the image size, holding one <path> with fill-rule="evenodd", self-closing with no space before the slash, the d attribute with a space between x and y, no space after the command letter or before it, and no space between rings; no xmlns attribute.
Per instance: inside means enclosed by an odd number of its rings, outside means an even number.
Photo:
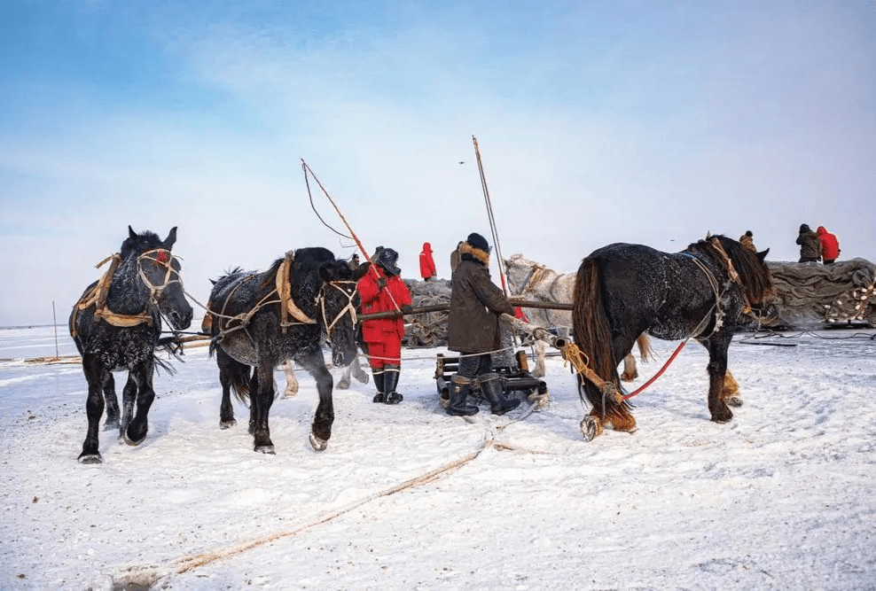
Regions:
<svg viewBox="0 0 876 591"><path fill-rule="evenodd" d="M82 371L88 382L88 433L82 444L81 463L100 463L98 424L106 396L106 428L116 426L120 437L138 445L149 429L146 415L155 398L155 364L168 366L155 356L160 343L161 317L176 330L192 323L192 307L185 299L179 260L170 253L176 227L163 241L146 230L137 234L128 227L121 251L111 258L105 275L82 293L70 315L70 335L82 354ZM113 371L128 370L122 391L123 412L115 396ZM137 415L134 415L134 402Z"/></svg>

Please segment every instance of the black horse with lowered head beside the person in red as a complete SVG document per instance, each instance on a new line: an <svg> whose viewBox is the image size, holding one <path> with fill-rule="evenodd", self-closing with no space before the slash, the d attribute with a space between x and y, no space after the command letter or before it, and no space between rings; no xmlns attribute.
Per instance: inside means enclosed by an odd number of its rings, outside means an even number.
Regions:
<svg viewBox="0 0 876 591"><path fill-rule="evenodd" d="M274 261L267 271L236 270L215 282L207 305L211 318L205 324L213 335L211 351L217 354L223 408L231 412L229 387L241 398L248 393L255 451L274 453L268 426L273 372L289 359L317 380L319 405L310 445L317 451L327 446L334 421L333 382L322 345L327 341L332 347L334 365L352 362L356 282L368 266L351 270L347 261L335 259L325 248L300 248ZM255 369L251 377L243 366ZM233 415L220 417L223 422L228 418L233 420Z"/></svg>

